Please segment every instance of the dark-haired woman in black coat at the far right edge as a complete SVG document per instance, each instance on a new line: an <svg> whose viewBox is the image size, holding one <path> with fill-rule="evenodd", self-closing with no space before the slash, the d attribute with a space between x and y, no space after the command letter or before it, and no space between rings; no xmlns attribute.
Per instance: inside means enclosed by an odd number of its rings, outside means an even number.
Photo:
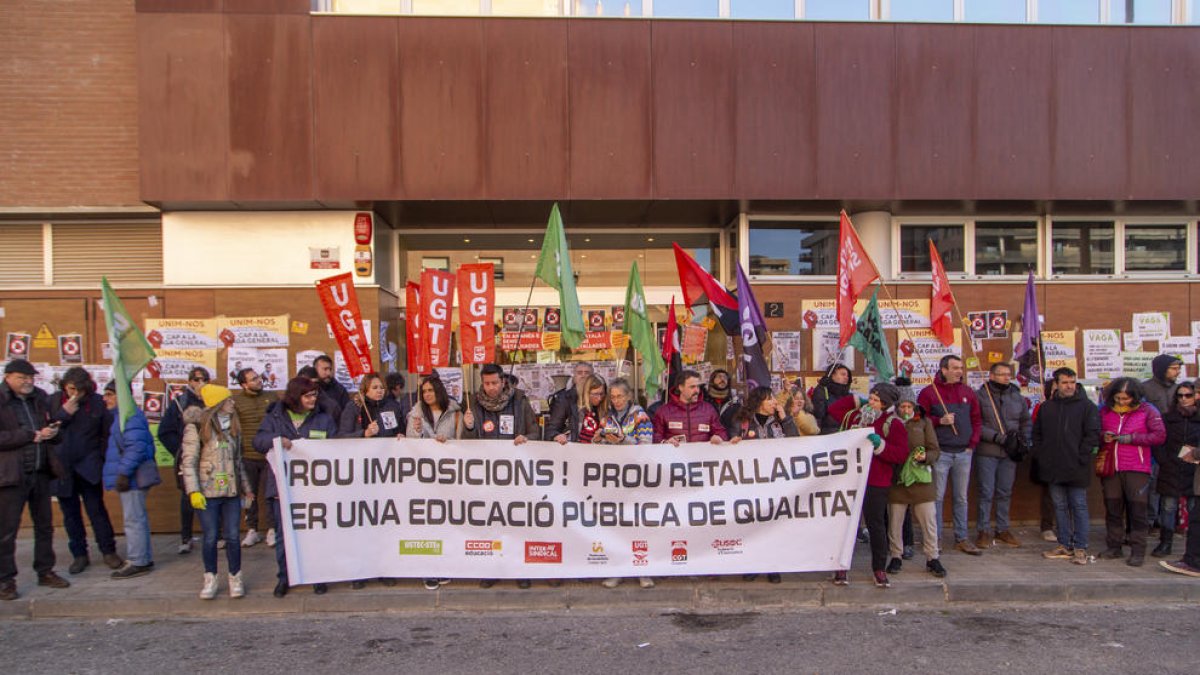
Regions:
<svg viewBox="0 0 1200 675"><path fill-rule="evenodd" d="M1180 450L1184 447L1200 446L1200 416L1196 414L1194 382L1181 382L1175 387L1171 405L1163 416L1163 425L1166 426L1166 443L1154 446L1154 460L1158 461L1158 495L1163 497L1163 528L1158 546L1150 554L1154 557L1171 555L1171 539L1175 537L1180 507L1187 509L1195 500L1195 491L1192 489L1195 465L1180 458Z"/></svg>

